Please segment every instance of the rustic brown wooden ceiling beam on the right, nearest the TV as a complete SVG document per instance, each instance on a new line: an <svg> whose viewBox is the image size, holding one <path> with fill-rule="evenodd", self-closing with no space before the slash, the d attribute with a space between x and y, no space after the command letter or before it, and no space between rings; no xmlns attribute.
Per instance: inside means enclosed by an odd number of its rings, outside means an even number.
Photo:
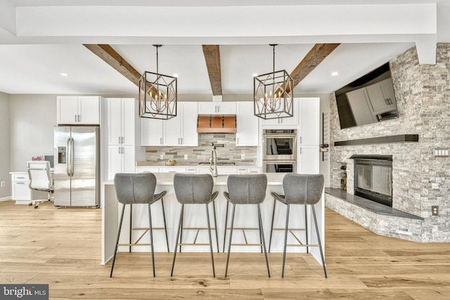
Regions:
<svg viewBox="0 0 450 300"><path fill-rule="evenodd" d="M290 77L294 79L293 88L297 86L304 77L307 77L315 67L322 63L322 61L339 45L340 44L315 44L297 67L295 67L293 72L290 73Z"/></svg>

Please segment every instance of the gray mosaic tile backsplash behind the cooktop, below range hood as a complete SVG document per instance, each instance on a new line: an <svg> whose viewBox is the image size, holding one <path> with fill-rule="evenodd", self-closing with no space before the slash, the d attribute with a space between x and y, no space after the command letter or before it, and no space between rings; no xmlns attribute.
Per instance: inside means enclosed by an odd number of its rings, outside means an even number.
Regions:
<svg viewBox="0 0 450 300"><path fill-rule="evenodd" d="M186 162L209 162L212 143L224 144L224 147L216 149L219 162L243 162L240 159L241 155L245 155L245 162L255 162L256 160L257 147L237 147L234 133L201 133L198 135L197 147L146 147L146 161L160 162L160 155L164 154L165 159L184 162L184 155L187 154Z"/></svg>

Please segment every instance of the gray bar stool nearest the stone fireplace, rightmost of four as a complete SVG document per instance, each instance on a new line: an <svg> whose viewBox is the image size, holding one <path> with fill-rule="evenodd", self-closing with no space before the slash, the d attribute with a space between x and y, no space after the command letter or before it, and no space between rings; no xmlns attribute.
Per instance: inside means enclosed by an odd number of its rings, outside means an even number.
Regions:
<svg viewBox="0 0 450 300"><path fill-rule="evenodd" d="M323 191L323 175L321 174L286 174L283 178L283 190L285 195L278 195L272 192L271 195L274 197L274 213L275 204L277 201L285 204L287 206L286 210L286 225L284 229L284 248L283 248L283 268L281 270L281 277L284 277L284 265L286 259L286 247L319 247L322 259L323 273L326 275L325 260L323 259L323 250L321 244L321 237L319 235L319 227L317 226L316 220L316 210L314 209L314 204L319 202L322 197ZM304 204L305 205L305 216L306 207L309 205L312 210L312 216L314 219L314 226L316 227L317 242L319 244L302 244L300 239L295 236L292 229L289 230L289 207L290 204ZM274 218L274 216L272 216ZM272 225L270 229L270 235L272 236L272 231L274 230L274 220L272 219ZM288 230L292 233L295 239L300 242L300 244L287 244L288 241ZM296 229L299 230L299 229ZM308 233L306 233L308 235ZM269 244L270 249L270 244Z"/></svg>

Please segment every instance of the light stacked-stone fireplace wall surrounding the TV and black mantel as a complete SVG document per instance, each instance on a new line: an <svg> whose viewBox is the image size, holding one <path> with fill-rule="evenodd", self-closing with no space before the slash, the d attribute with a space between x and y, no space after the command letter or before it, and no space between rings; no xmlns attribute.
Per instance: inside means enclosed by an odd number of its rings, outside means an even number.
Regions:
<svg viewBox="0 0 450 300"><path fill-rule="evenodd" d="M399 118L340 129L334 93L330 96L330 185L340 188L340 166L347 164L347 193L354 193L354 154L392 155L393 208L421 216L420 230L402 218L392 226L409 230L410 240L450 242L450 158L433 157L450 147L450 44L438 44L437 64L419 65L416 48L390 61ZM335 147L335 141L418 134L418 143ZM432 205L439 216L431 216ZM357 223L357 220L354 220Z"/></svg>

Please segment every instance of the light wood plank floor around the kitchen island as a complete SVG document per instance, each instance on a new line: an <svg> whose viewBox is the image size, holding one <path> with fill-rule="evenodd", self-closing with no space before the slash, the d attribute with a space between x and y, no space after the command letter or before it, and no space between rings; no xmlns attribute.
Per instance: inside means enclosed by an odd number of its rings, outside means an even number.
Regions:
<svg viewBox="0 0 450 300"><path fill-rule="evenodd" d="M0 202L0 283L48 283L51 299L450 299L450 244L380 237L326 209L328 279L309 254L119 254L101 266L101 209Z"/></svg>

